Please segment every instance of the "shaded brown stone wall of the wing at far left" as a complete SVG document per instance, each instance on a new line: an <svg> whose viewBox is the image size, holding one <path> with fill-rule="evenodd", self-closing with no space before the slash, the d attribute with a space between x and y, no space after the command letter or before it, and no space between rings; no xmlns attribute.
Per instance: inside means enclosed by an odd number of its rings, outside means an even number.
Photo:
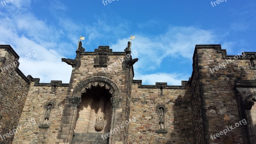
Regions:
<svg viewBox="0 0 256 144"><path fill-rule="evenodd" d="M16 69L19 56L10 45L0 45L0 143L12 143L27 99L29 84ZM16 63L14 63L16 61ZM24 79L25 78L25 79Z"/></svg>

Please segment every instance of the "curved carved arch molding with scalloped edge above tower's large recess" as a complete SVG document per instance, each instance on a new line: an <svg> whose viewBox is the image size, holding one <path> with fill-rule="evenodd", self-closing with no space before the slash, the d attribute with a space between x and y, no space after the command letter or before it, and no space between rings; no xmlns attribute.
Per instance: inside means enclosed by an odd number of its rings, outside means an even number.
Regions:
<svg viewBox="0 0 256 144"><path fill-rule="evenodd" d="M81 97L82 93L86 93L86 90L92 86L105 87L113 97L119 97L119 89L116 84L104 76L93 76L79 83L74 89L73 97Z"/></svg>

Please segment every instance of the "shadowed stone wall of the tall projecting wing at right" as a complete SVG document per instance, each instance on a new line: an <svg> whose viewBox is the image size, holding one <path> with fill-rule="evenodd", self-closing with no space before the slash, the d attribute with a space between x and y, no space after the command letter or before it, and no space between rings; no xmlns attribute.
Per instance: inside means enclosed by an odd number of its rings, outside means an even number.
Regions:
<svg viewBox="0 0 256 144"><path fill-rule="evenodd" d="M220 45L198 45L196 51L206 143L244 143L241 126L226 135L220 135L218 139L216 133L227 126L234 127L241 120L235 94L235 82L240 79L255 79L255 69L251 68L250 60L246 57L227 56L225 50L220 50ZM213 71L213 68L219 66L221 68ZM212 140L211 135L215 135L216 139L213 137L214 140Z"/></svg>

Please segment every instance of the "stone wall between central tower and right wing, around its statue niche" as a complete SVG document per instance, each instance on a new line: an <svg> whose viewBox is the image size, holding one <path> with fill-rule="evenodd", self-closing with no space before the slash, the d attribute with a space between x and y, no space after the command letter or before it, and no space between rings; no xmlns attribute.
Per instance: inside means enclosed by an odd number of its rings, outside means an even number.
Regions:
<svg viewBox="0 0 256 144"><path fill-rule="evenodd" d="M145 85L139 88L139 85L132 84L129 144L193 143L189 85L164 88L163 95L160 89L146 88ZM159 104L167 107L164 122L167 133L156 133L159 122L156 107Z"/></svg>

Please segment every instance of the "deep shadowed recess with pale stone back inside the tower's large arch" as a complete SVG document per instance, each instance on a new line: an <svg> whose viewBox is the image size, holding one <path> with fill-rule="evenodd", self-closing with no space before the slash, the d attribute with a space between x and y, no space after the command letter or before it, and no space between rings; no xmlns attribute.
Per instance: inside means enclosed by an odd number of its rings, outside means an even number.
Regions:
<svg viewBox="0 0 256 144"><path fill-rule="evenodd" d="M107 133L110 130L112 105L110 88L95 84L85 89L78 108L76 133Z"/></svg>

